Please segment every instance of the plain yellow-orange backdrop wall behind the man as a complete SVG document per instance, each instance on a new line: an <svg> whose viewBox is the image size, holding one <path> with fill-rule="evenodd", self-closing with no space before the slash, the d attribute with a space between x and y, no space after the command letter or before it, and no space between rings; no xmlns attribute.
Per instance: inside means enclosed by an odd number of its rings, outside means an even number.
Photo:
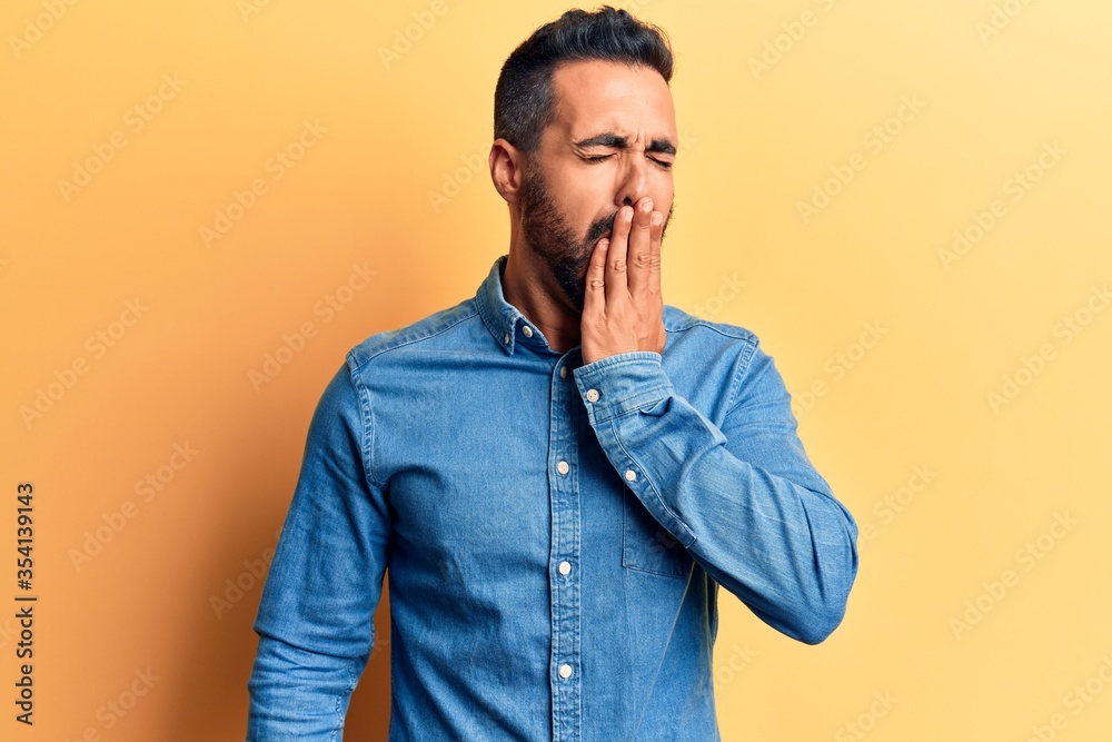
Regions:
<svg viewBox="0 0 1112 742"><path fill-rule="evenodd" d="M242 739L251 570L326 382L366 336L474 295L508 247L494 86L566 6L443 1L0 9L4 740ZM719 594L723 739L1109 739L1112 6L625 7L678 58L665 300L762 337L815 465L872 528L824 644ZM87 185L59 185L113 137ZM300 156L280 178L277 151ZM825 205L804 218L801 201ZM964 255L940 253L977 219L991 227ZM374 271L361 290L353 266ZM284 343L299 350L252 383ZM58 398L28 416L40 390ZM20 482L36 487L33 729L12 703ZM385 739L386 606L348 739Z"/></svg>

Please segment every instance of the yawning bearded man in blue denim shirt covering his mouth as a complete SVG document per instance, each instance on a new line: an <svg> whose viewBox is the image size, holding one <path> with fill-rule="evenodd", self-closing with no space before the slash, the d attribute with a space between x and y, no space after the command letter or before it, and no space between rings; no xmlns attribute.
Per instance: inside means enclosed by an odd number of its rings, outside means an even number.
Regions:
<svg viewBox="0 0 1112 742"><path fill-rule="evenodd" d="M391 741L718 740L718 586L808 644L857 528L756 337L665 306L664 37L569 11L506 61L508 256L348 353L270 566L249 738L332 740L389 568Z"/></svg>

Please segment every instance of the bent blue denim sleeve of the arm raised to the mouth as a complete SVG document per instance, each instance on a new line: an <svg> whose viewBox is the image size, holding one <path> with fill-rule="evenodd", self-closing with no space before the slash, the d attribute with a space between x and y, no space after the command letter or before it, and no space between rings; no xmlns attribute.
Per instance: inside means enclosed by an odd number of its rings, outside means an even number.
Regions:
<svg viewBox="0 0 1112 742"><path fill-rule="evenodd" d="M826 639L857 573L857 526L807 459L772 358L754 345L737 364L721 426L676 394L657 353L574 374L607 458L653 517L762 621Z"/></svg>

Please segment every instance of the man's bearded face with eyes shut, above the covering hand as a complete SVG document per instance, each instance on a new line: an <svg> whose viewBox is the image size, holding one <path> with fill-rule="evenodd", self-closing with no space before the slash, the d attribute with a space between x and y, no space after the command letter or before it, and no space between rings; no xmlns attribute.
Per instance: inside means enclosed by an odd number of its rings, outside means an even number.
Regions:
<svg viewBox="0 0 1112 742"><path fill-rule="evenodd" d="M576 311L595 245L642 197L672 219L677 142L672 92L656 70L572 62L553 77L557 117L529 157L520 194L525 241Z"/></svg>

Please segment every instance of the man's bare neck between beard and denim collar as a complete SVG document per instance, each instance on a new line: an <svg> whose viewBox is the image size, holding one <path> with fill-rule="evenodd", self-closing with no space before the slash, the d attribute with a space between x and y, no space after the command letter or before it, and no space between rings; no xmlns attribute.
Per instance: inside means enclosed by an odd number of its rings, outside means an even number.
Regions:
<svg viewBox="0 0 1112 742"><path fill-rule="evenodd" d="M579 345L582 315L556 297L560 288L544 268L522 258L527 248L510 245L502 274L502 294L544 334L557 353Z"/></svg>

